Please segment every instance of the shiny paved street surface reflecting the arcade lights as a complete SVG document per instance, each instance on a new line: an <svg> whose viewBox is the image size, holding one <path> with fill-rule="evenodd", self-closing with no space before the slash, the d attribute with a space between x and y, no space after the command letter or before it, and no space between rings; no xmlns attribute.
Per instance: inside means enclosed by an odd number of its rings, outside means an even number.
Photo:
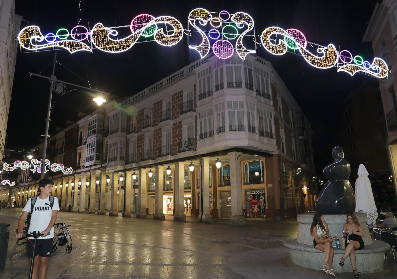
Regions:
<svg viewBox="0 0 397 279"><path fill-rule="evenodd" d="M21 209L0 211L2 223L17 227ZM283 241L295 238L297 222L247 220L245 226L230 226L227 219L199 224L187 217L186 223L109 217L94 214L59 212L58 222L71 224L73 249L58 247L50 259L47 278L318 278L320 271L292 266ZM10 235L10 255L15 235ZM337 264L337 259L334 260ZM361 278L396 278L397 264L391 253L382 274ZM17 248L7 260L0 278L27 278L25 246ZM337 274L351 278L352 273Z"/></svg>

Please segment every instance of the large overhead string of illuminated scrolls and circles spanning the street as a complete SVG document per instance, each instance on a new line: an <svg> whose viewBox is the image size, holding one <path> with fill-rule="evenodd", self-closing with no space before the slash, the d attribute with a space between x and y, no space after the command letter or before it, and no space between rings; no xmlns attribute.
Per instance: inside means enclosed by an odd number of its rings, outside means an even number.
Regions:
<svg viewBox="0 0 397 279"><path fill-rule="evenodd" d="M189 13L187 28L172 16L140 14L125 26L106 27L96 23L89 30L83 25L77 25L70 30L61 28L45 35L39 26L31 25L19 32L18 41L22 48L30 51L64 48L75 53L93 52L96 48L119 53L129 50L137 43L149 41L171 47L179 43L184 34L189 48L197 51L201 58L208 56L212 50L220 59L230 58L233 53L237 53L244 60L247 54L256 53L256 46L261 44L274 55L287 52L299 54L318 69L336 67L338 72L347 72L351 76L361 72L380 79L387 77L389 72L387 64L381 58L364 60L349 50L338 51L331 43L328 46L311 43L297 29L272 26L256 33L254 20L248 13L208 12L203 8Z"/></svg>

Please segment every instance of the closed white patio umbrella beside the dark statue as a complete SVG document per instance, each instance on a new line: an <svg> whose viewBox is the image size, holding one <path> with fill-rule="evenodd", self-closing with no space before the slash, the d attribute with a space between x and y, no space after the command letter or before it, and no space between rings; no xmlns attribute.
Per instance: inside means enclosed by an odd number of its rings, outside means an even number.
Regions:
<svg viewBox="0 0 397 279"><path fill-rule="evenodd" d="M367 224L375 224L378 218L378 210L375 206L374 195L370 180L368 179L368 171L363 164L358 167L358 178L356 179L356 212L364 212L367 214Z"/></svg>

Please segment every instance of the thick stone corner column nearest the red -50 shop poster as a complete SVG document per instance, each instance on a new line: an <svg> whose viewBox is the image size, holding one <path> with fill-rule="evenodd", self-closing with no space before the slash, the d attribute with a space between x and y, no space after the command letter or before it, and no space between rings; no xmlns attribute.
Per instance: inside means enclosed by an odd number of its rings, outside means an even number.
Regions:
<svg viewBox="0 0 397 279"><path fill-rule="evenodd" d="M230 225L245 225L241 192L241 152L227 153L230 159L231 216Z"/></svg>

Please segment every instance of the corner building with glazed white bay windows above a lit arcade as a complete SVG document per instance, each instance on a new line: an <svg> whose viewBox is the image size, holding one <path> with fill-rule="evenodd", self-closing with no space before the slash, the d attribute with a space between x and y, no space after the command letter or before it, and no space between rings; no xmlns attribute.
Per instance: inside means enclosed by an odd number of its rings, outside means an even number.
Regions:
<svg viewBox="0 0 397 279"><path fill-rule="evenodd" d="M221 217L235 225L281 220L314 208L311 135L270 62L212 56L52 137L51 163L75 164L70 175L46 175L64 210L205 223ZM28 190L21 193L37 187L34 175L21 177Z"/></svg>

